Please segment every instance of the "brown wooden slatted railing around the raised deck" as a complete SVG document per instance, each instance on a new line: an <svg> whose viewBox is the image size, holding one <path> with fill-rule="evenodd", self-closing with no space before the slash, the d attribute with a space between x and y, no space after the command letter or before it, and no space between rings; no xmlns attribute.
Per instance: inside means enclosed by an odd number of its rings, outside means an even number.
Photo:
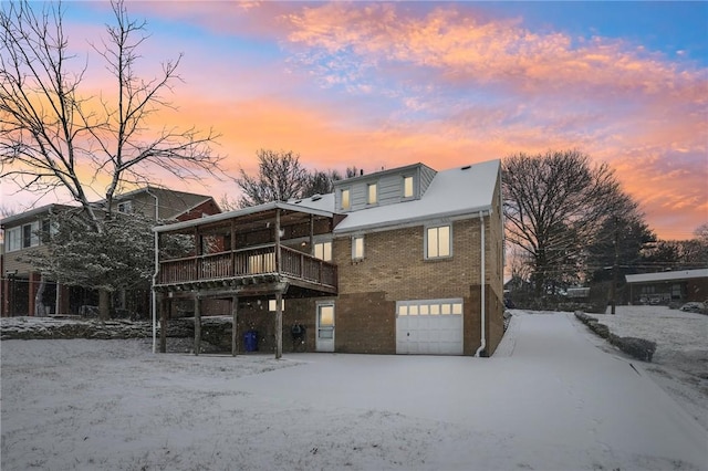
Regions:
<svg viewBox="0 0 708 471"><path fill-rule="evenodd" d="M274 244L188 257L159 262L159 284L237 279L280 273L312 283L336 287L336 265L288 247L280 247L280 271Z"/></svg>

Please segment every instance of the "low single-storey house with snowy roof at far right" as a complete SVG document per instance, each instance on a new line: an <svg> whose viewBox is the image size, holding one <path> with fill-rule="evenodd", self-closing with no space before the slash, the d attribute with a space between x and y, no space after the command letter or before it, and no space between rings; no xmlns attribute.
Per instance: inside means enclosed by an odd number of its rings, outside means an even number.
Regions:
<svg viewBox="0 0 708 471"><path fill-rule="evenodd" d="M708 269L626 275L632 304L708 300Z"/></svg>

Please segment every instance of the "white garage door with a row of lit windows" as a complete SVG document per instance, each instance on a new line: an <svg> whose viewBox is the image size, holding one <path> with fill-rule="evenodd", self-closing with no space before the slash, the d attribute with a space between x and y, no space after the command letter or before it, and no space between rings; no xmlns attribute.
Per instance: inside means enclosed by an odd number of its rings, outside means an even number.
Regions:
<svg viewBox="0 0 708 471"><path fill-rule="evenodd" d="M462 300L398 301L396 353L462 355Z"/></svg>

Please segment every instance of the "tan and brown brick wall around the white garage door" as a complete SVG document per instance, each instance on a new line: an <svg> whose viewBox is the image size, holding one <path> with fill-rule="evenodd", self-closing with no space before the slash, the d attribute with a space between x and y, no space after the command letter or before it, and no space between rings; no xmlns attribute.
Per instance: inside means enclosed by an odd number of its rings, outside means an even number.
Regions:
<svg viewBox="0 0 708 471"><path fill-rule="evenodd" d="M499 212L486 218L487 353L503 335L502 244ZM350 237L333 242L340 273L336 300L337 352L396 352L395 302L461 297L465 355L480 345L480 221L452 223L452 257L425 260L425 227L365 234L362 261L352 261Z"/></svg>

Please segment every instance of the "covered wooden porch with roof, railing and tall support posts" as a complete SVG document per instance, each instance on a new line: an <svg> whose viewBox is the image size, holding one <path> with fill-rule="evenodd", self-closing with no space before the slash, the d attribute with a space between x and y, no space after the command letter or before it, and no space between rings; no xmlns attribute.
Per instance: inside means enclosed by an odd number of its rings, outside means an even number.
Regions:
<svg viewBox="0 0 708 471"><path fill-rule="evenodd" d="M159 257L153 289L160 323L166 325L174 300L194 300L198 355L201 301L227 300L236 355L239 299L266 297L275 302L273 322L281 338L282 300L337 293L336 265L323 260L322 250L332 242L334 218L331 212L273 202L155 228ZM163 352L164 342L160 336ZM281 355L278 345L275 357Z"/></svg>

